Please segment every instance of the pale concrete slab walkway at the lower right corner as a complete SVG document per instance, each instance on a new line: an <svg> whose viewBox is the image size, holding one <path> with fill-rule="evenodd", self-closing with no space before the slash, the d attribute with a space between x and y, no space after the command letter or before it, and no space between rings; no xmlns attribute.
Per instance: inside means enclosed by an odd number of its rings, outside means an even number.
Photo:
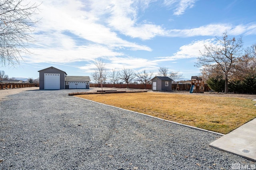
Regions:
<svg viewBox="0 0 256 170"><path fill-rule="evenodd" d="M209 145L256 162L256 118Z"/></svg>

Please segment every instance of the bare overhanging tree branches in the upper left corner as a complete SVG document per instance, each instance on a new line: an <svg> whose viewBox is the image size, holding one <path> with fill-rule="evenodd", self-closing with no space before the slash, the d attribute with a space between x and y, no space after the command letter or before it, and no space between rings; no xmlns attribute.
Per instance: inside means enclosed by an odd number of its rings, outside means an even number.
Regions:
<svg viewBox="0 0 256 170"><path fill-rule="evenodd" d="M4 65L19 64L22 53L30 53L29 45L36 39L32 35L38 20L37 4L24 4L24 0L0 1L0 63Z"/></svg>

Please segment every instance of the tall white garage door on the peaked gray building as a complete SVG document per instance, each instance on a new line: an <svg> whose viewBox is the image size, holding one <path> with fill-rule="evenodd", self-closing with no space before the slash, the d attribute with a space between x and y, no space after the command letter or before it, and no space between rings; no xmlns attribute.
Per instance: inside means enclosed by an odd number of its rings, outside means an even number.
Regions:
<svg viewBox="0 0 256 170"><path fill-rule="evenodd" d="M44 89L60 89L60 74L44 73Z"/></svg>

